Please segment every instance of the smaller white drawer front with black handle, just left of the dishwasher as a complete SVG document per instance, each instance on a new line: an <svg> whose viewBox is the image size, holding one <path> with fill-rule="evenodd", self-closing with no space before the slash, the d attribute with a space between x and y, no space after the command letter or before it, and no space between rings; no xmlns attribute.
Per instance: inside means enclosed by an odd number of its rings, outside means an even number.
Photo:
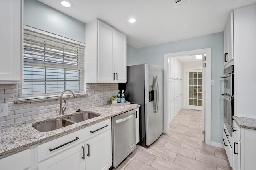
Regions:
<svg viewBox="0 0 256 170"><path fill-rule="evenodd" d="M88 139L102 131L111 129L111 119L104 120L102 122L96 123L84 129L84 137Z"/></svg>

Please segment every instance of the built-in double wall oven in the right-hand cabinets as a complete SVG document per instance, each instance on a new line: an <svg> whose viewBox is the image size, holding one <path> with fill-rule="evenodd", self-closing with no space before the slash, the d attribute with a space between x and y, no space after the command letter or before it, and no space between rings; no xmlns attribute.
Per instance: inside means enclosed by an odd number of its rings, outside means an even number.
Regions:
<svg viewBox="0 0 256 170"><path fill-rule="evenodd" d="M224 123L232 136L232 117L234 115L234 65L224 69L224 93L221 94L224 112Z"/></svg>

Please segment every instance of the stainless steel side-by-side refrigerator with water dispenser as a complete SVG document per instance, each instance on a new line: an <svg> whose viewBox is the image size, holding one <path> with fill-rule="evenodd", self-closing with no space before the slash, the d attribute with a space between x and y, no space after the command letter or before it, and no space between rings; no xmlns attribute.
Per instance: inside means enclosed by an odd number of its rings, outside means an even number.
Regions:
<svg viewBox="0 0 256 170"><path fill-rule="evenodd" d="M140 104L140 142L151 145L164 131L163 69L141 64L127 66L126 100Z"/></svg>

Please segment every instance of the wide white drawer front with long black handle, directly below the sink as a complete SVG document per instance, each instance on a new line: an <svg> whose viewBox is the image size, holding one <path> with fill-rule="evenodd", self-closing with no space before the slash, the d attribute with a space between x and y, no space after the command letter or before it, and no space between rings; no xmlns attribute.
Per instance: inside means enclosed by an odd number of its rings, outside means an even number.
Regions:
<svg viewBox="0 0 256 170"><path fill-rule="evenodd" d="M69 133L52 141L37 146L38 162L50 156L58 154L84 141L84 129ZM51 150L51 151L50 151Z"/></svg>

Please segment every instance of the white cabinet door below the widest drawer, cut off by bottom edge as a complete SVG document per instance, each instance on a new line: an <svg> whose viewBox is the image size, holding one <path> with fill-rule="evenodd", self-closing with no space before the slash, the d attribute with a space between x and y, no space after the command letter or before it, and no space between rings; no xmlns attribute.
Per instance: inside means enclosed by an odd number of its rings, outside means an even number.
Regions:
<svg viewBox="0 0 256 170"><path fill-rule="evenodd" d="M83 144L71 147L38 164L38 170L84 170Z"/></svg>

